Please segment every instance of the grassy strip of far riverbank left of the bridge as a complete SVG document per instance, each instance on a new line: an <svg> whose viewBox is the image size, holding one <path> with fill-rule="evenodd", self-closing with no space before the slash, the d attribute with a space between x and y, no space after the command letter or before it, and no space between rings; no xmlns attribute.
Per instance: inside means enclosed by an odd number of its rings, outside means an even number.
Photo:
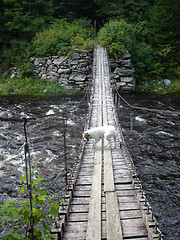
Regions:
<svg viewBox="0 0 180 240"><path fill-rule="evenodd" d="M32 97L41 96L66 96L81 94L83 91L64 86L59 86L55 81L46 81L36 77L13 79L0 77L0 96L28 95Z"/></svg>

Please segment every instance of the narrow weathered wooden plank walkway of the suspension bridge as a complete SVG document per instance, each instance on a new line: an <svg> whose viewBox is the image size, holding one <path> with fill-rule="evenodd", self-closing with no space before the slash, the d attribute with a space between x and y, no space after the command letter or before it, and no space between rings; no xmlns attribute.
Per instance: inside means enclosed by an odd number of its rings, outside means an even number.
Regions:
<svg viewBox="0 0 180 240"><path fill-rule="evenodd" d="M52 232L63 240L161 239L157 221L146 200L135 167L128 155L111 96L105 49L94 51L94 88L89 127L113 125L118 131L107 148L101 140L84 148L81 165L59 210L60 223ZM122 145L122 146L121 146Z"/></svg>

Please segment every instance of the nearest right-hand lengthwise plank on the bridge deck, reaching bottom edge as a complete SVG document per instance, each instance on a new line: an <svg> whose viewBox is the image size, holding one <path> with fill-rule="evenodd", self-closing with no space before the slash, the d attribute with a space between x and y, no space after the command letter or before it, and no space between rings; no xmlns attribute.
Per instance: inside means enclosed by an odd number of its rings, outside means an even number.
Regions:
<svg viewBox="0 0 180 240"><path fill-rule="evenodd" d="M106 192L107 240L123 239L116 192Z"/></svg>

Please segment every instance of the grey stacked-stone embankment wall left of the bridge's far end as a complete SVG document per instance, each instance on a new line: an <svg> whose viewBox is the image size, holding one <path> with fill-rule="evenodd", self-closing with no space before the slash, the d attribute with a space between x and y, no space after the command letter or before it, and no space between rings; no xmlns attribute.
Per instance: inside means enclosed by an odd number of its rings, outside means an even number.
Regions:
<svg viewBox="0 0 180 240"><path fill-rule="evenodd" d="M74 50L68 56L31 58L34 73L46 80L55 80L59 85L86 89L92 79L92 51Z"/></svg>

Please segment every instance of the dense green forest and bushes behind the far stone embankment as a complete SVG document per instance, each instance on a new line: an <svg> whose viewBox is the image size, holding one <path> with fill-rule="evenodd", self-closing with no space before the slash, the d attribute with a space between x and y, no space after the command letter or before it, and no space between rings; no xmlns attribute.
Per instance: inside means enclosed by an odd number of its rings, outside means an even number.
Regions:
<svg viewBox="0 0 180 240"><path fill-rule="evenodd" d="M118 58L132 55L139 82L178 79L178 0L1 0L0 70L20 67L30 76L31 56L71 55L95 42Z"/></svg>

